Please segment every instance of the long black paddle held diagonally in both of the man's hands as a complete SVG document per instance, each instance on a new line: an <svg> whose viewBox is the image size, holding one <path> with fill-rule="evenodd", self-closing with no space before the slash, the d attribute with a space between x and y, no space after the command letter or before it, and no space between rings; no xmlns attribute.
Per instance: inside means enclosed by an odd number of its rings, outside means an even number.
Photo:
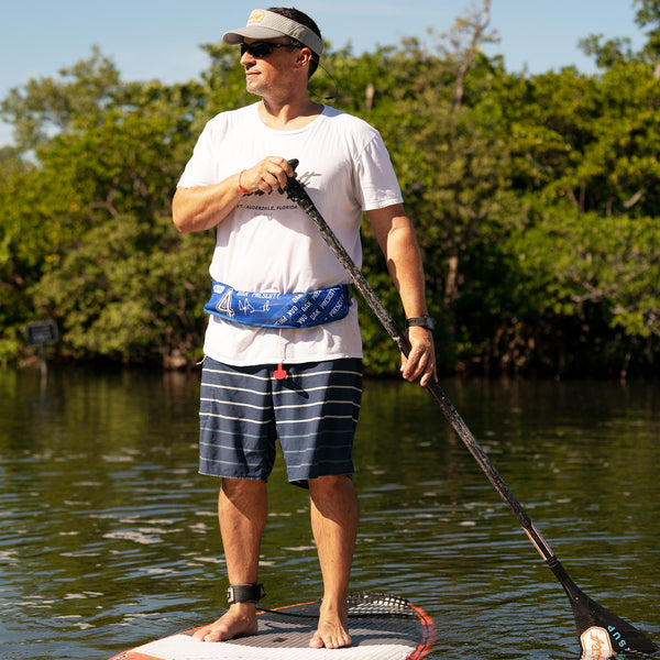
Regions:
<svg viewBox="0 0 660 660"><path fill-rule="evenodd" d="M289 164L295 169L298 161L289 161ZM364 275L355 266L343 245L339 242L332 230L328 227L326 220L318 211L309 195L302 185L295 178L289 178L286 187L286 196L295 201L315 223L330 250L334 253L341 265L353 279L355 288L366 300L371 309L374 311L385 330L395 341L399 351L408 356L410 352L410 342L400 332L396 322L381 302L378 296L374 293ZM554 573L563 586L571 607L573 617L575 618L575 627L578 637L584 652L584 658L608 658L613 652L631 651L642 653L653 653L658 650L658 646L640 632L637 628L626 623L618 616L608 612L586 594L584 594L578 585L569 578L564 568L561 565L552 550L531 519L527 515L522 505L515 497L510 488L506 485L491 459L476 441L452 403L449 400L444 392L441 389L438 382L432 378L427 385L427 389L431 393L433 399L440 405L447 419L454 428L461 440L465 443L480 468L485 472L490 482L499 493L504 502L507 504L527 536L532 542L539 554L543 558L550 570Z"/></svg>

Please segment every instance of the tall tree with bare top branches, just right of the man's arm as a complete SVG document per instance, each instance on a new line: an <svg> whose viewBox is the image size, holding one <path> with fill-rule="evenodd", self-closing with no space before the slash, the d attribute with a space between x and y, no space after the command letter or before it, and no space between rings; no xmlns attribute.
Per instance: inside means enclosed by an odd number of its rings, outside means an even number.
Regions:
<svg viewBox="0 0 660 660"><path fill-rule="evenodd" d="M492 248L506 217L515 216L508 146L495 130L501 109L492 94L503 70L481 53L494 40L488 10L484 2L459 19L449 46L448 35L430 32L435 53L410 41L391 57L400 79L388 90L387 114L376 121L417 224L443 367L459 354L471 359L472 329L461 312L476 302L480 323L487 323L491 310L474 274L494 267Z"/></svg>

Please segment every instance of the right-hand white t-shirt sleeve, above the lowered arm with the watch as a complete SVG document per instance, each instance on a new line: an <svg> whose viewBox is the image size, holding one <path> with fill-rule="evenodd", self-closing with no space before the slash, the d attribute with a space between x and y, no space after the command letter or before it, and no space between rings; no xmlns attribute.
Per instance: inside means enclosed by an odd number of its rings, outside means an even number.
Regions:
<svg viewBox="0 0 660 660"><path fill-rule="evenodd" d="M404 201L383 138L374 131L355 164L362 210L383 209Z"/></svg>

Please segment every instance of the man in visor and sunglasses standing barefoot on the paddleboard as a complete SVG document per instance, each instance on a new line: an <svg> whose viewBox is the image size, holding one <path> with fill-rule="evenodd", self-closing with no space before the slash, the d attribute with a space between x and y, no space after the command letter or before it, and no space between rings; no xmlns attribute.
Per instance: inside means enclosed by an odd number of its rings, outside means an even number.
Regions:
<svg viewBox="0 0 660 660"><path fill-rule="evenodd" d="M312 102L308 79L323 42L295 9L254 10L223 35L240 45L252 106L206 125L173 201L182 232L217 228L205 340L200 472L222 477L218 512L230 608L204 641L256 632L266 480L279 441L288 480L309 488L323 580L312 648L351 644L345 600L358 531L351 449L362 346L350 278L282 189L297 176L356 263L366 211L409 323L404 378L435 373L424 272L410 220L380 134Z"/></svg>

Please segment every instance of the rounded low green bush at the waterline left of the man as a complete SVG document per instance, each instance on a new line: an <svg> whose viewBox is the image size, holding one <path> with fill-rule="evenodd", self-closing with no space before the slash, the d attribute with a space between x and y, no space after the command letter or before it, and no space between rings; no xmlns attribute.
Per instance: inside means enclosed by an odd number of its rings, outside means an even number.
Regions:
<svg viewBox="0 0 660 660"><path fill-rule="evenodd" d="M59 320L70 358L183 366L200 349L208 276L195 264L210 250L210 237L179 237L169 217L117 216L89 229L30 293Z"/></svg>

